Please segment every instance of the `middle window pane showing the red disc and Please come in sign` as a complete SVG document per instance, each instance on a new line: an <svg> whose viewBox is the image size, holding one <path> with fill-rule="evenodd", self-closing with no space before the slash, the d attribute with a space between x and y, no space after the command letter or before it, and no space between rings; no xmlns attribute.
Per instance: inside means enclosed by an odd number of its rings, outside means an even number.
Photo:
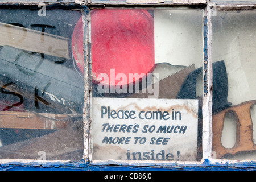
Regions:
<svg viewBox="0 0 256 182"><path fill-rule="evenodd" d="M200 160L201 9L90 14L96 160Z"/></svg>

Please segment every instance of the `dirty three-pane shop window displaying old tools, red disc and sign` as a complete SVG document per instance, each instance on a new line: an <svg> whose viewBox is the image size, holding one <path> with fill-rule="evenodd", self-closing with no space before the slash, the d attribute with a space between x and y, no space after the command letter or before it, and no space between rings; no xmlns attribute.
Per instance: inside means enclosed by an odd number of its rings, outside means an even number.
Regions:
<svg viewBox="0 0 256 182"><path fill-rule="evenodd" d="M255 160L254 1L212 2L91 9L86 46L78 10L0 9L0 159L196 162L207 138L212 159Z"/></svg>

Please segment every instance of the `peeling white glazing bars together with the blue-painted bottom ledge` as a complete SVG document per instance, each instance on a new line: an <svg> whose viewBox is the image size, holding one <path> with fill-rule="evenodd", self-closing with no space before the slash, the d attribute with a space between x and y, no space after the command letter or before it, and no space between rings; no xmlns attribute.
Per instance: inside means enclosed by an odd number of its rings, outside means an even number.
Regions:
<svg viewBox="0 0 256 182"><path fill-rule="evenodd" d="M79 1L80 3L81 1ZM77 3L77 2L76 2ZM84 2L84 3L90 3ZM84 3L80 3L84 4ZM26 4L26 3L24 3ZM2 2L2 6L5 4ZM35 3L34 3L35 5ZM88 72L88 31L84 32L84 58L85 58L85 106L84 106L84 158L80 162L71 162L71 161L47 161L46 164L42 164L42 161L38 160L21 160L21 159L1 159L0 160L0 170L22 170L22 169L32 169L32 170L42 170L39 167L45 167L45 169L51 170L60 170L63 169L79 169L79 170L141 170L141 169L185 169L185 170L247 170L253 169L255 170L256 162L253 160L221 160L221 159L212 159L211 158L211 92L210 88L212 86L212 72L211 72L211 22L210 22L210 9L213 4L210 4L207 1L207 8L205 11L205 36L207 39L205 40L207 43L207 49L204 50L205 57L205 69L204 69L204 82L206 87L204 89L205 97L204 97L204 105L203 105L203 117L204 117L204 125L203 125L203 159L201 162L138 162L138 161L120 161L120 160L108 160L108 161L98 161L98 160L90 160L92 159L92 154L90 152L90 91L87 89L89 85L89 72ZM54 5L51 5L54 6ZM58 5L59 6L59 5ZM255 9L255 5L217 5L218 10L240 10L240 9ZM84 22L84 30L88 30L88 9L85 8L82 12L83 22ZM89 162L89 163L88 163ZM111 165L111 166L109 166ZM148 168L149 167L149 168Z"/></svg>

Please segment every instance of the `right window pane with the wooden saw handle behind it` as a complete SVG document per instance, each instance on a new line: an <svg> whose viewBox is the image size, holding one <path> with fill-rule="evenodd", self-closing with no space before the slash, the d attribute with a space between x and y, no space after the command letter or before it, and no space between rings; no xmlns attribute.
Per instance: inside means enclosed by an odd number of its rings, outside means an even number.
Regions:
<svg viewBox="0 0 256 182"><path fill-rule="evenodd" d="M213 151L218 159L256 159L255 18L254 10L217 11L212 17Z"/></svg>

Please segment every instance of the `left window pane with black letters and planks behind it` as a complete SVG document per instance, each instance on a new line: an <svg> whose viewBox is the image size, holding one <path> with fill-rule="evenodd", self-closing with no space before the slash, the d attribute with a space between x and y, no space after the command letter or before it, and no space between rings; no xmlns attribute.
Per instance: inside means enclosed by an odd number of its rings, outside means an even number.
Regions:
<svg viewBox="0 0 256 182"><path fill-rule="evenodd" d="M84 83L74 28L81 13L0 14L0 158L80 160Z"/></svg>

